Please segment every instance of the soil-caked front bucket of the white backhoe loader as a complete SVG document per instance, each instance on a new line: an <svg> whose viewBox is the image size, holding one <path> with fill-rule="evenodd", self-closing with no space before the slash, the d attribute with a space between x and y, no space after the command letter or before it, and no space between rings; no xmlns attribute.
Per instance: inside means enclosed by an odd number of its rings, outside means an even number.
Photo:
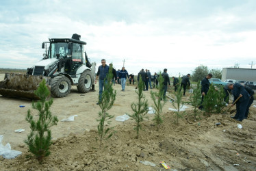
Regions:
<svg viewBox="0 0 256 171"><path fill-rule="evenodd" d="M47 81L48 77L5 73L4 80L0 81L0 94L14 98L39 99L34 91L38 88L42 79Z"/></svg>

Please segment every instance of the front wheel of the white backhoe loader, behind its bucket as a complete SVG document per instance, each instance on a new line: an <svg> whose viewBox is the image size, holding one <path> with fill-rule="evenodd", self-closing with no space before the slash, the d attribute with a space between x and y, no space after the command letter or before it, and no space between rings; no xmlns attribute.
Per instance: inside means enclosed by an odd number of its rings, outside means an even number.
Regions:
<svg viewBox="0 0 256 171"><path fill-rule="evenodd" d="M51 81L51 94L55 97L64 97L71 92L71 81L64 75L54 77Z"/></svg>

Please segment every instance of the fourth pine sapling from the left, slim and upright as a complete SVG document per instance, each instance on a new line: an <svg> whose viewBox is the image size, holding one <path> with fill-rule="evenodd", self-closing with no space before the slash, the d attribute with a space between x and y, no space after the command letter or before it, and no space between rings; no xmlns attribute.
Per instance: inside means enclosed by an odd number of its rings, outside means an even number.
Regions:
<svg viewBox="0 0 256 171"><path fill-rule="evenodd" d="M155 109L155 117L153 120L155 121L155 124L157 125L157 131L159 130L160 124L162 124L162 109L166 103L166 101L161 101L161 98L164 96L164 78L162 77L161 73L159 73L159 77L157 78L159 82L159 91L158 92L152 92L151 91L151 98L153 99L154 105L153 108Z"/></svg>

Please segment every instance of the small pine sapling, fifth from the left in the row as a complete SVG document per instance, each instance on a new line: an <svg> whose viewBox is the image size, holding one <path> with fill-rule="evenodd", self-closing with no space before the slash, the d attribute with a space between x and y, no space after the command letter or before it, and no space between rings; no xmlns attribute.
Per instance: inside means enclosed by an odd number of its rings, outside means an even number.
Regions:
<svg viewBox="0 0 256 171"><path fill-rule="evenodd" d="M182 92L181 92L181 86L177 85L177 91L175 92L175 102L172 103L173 107L175 107L175 109L177 111L175 111L176 116L177 116L177 120L176 123L179 124L179 118L183 117L183 113L181 112L181 108L184 105L184 102L182 101ZM176 104L176 105L175 105Z"/></svg>

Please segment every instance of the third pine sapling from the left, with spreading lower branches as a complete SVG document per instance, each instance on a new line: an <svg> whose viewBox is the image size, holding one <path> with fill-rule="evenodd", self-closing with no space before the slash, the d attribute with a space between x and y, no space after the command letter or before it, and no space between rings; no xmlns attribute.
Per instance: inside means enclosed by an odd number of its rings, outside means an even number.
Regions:
<svg viewBox="0 0 256 171"><path fill-rule="evenodd" d="M144 120L145 115L149 111L148 107L148 101L145 99L145 96L143 95L143 81L142 77L140 76L139 84L138 84L138 91L136 91L136 94L138 94L138 103L131 103L131 109L133 110L133 114L129 115L131 118L133 118L136 121L136 138L139 138L139 131L142 128L141 122Z"/></svg>

